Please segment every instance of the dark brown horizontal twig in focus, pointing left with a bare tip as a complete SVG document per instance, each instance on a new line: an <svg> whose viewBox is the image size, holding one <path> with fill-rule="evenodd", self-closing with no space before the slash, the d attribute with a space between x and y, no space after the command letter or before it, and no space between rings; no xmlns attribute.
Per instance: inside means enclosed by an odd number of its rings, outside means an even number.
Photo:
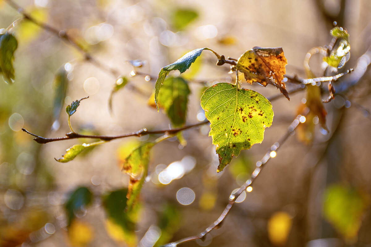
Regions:
<svg viewBox="0 0 371 247"><path fill-rule="evenodd" d="M94 136L94 135L82 135L82 134L78 134L74 132L69 132L66 134L66 136L63 136L63 137L45 138L45 137L37 136L27 131L24 128L22 128L22 131L26 132L27 134L30 134L31 136L35 136L36 138L34 138L33 140L35 140L37 143L46 144L46 143L53 142L53 141L63 141L63 140L76 139L76 138L90 138L90 139L99 139L102 141L111 141L114 139L119 139L119 138L124 138L124 137L129 137L129 136L141 137L141 136L148 135L148 134L175 134L175 133L178 133L179 131L187 130L188 128L197 127L197 126L200 126L202 124L207 124L207 123L209 123L209 121L203 121L201 123L192 124L192 125L184 126L181 128L174 128L172 130L168 129L168 130L150 131L150 130L147 130L146 128L142 128L141 130L138 130L132 133L122 134L119 136L99 136L99 135Z"/></svg>

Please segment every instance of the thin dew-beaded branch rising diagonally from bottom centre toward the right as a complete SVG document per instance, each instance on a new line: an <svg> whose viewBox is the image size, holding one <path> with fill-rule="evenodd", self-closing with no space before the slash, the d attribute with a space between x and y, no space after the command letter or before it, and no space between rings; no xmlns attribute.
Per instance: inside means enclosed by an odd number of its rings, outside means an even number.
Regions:
<svg viewBox="0 0 371 247"><path fill-rule="evenodd" d="M256 177L259 175L260 171L262 171L262 169L264 167L263 165L266 164L271 157L275 157L276 156L276 151L278 150L278 148L283 143L285 143L285 141L290 136L292 136L295 133L294 132L295 128L299 125L299 123L301 123L301 121L303 121L301 119L302 117L303 117L302 115L298 115L295 118L295 120L288 127L287 133L285 133L285 135L282 136L278 142L275 142L270 147L269 151L267 151L267 153L265 154L265 156L263 156L263 158L261 160L256 162L256 168L253 171L250 178L239 188L239 190L236 193L233 193L233 194L230 195L228 205L224 208L223 213L221 213L221 215L219 216L219 218L216 221L214 221L209 227L207 227L203 232L201 232L197 236L186 237L186 238L183 238L181 240L165 244L163 247L175 247L175 246L178 246L178 244L183 244L183 243L186 243L186 242L189 242L189 241L193 241L193 240L197 240L197 239L203 240L206 237L206 234L208 234L210 231L212 231L213 229L218 229L221 226L221 224L223 223L223 220L226 218L230 209L233 207L237 198L242 194L242 192L244 190L246 190L247 187L252 186Z"/></svg>

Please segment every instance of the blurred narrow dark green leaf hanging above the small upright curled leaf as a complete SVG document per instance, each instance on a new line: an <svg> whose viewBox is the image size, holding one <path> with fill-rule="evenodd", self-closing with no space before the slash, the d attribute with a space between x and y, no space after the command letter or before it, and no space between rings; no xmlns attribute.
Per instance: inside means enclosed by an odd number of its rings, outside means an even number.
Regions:
<svg viewBox="0 0 371 247"><path fill-rule="evenodd" d="M65 70L64 65L60 67L57 71L54 81L53 81L53 89L54 89L54 100L53 100L53 118L54 120L58 119L60 112L62 111L62 107L65 103L65 97L68 87L68 79L67 79L68 72Z"/></svg>

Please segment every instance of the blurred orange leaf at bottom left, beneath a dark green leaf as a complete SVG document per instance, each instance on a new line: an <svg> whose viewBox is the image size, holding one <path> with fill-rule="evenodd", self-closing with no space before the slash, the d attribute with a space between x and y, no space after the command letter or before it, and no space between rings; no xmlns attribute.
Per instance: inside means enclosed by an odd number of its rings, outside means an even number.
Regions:
<svg viewBox="0 0 371 247"><path fill-rule="evenodd" d="M86 246L92 241L91 226L79 220L73 220L68 228L68 238L72 246Z"/></svg>

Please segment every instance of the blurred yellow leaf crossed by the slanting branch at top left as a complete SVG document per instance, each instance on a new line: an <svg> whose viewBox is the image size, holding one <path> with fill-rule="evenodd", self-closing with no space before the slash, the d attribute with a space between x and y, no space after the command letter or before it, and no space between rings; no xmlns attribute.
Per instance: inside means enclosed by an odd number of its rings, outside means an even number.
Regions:
<svg viewBox="0 0 371 247"><path fill-rule="evenodd" d="M31 17L33 17L40 23L46 23L47 19L49 18L47 10L43 8L34 8L32 10L29 10L28 13ZM17 37L20 40L20 42L27 43L34 40L37 37L37 35L40 34L41 30L42 28L37 26L32 21L23 19L17 25Z"/></svg>

